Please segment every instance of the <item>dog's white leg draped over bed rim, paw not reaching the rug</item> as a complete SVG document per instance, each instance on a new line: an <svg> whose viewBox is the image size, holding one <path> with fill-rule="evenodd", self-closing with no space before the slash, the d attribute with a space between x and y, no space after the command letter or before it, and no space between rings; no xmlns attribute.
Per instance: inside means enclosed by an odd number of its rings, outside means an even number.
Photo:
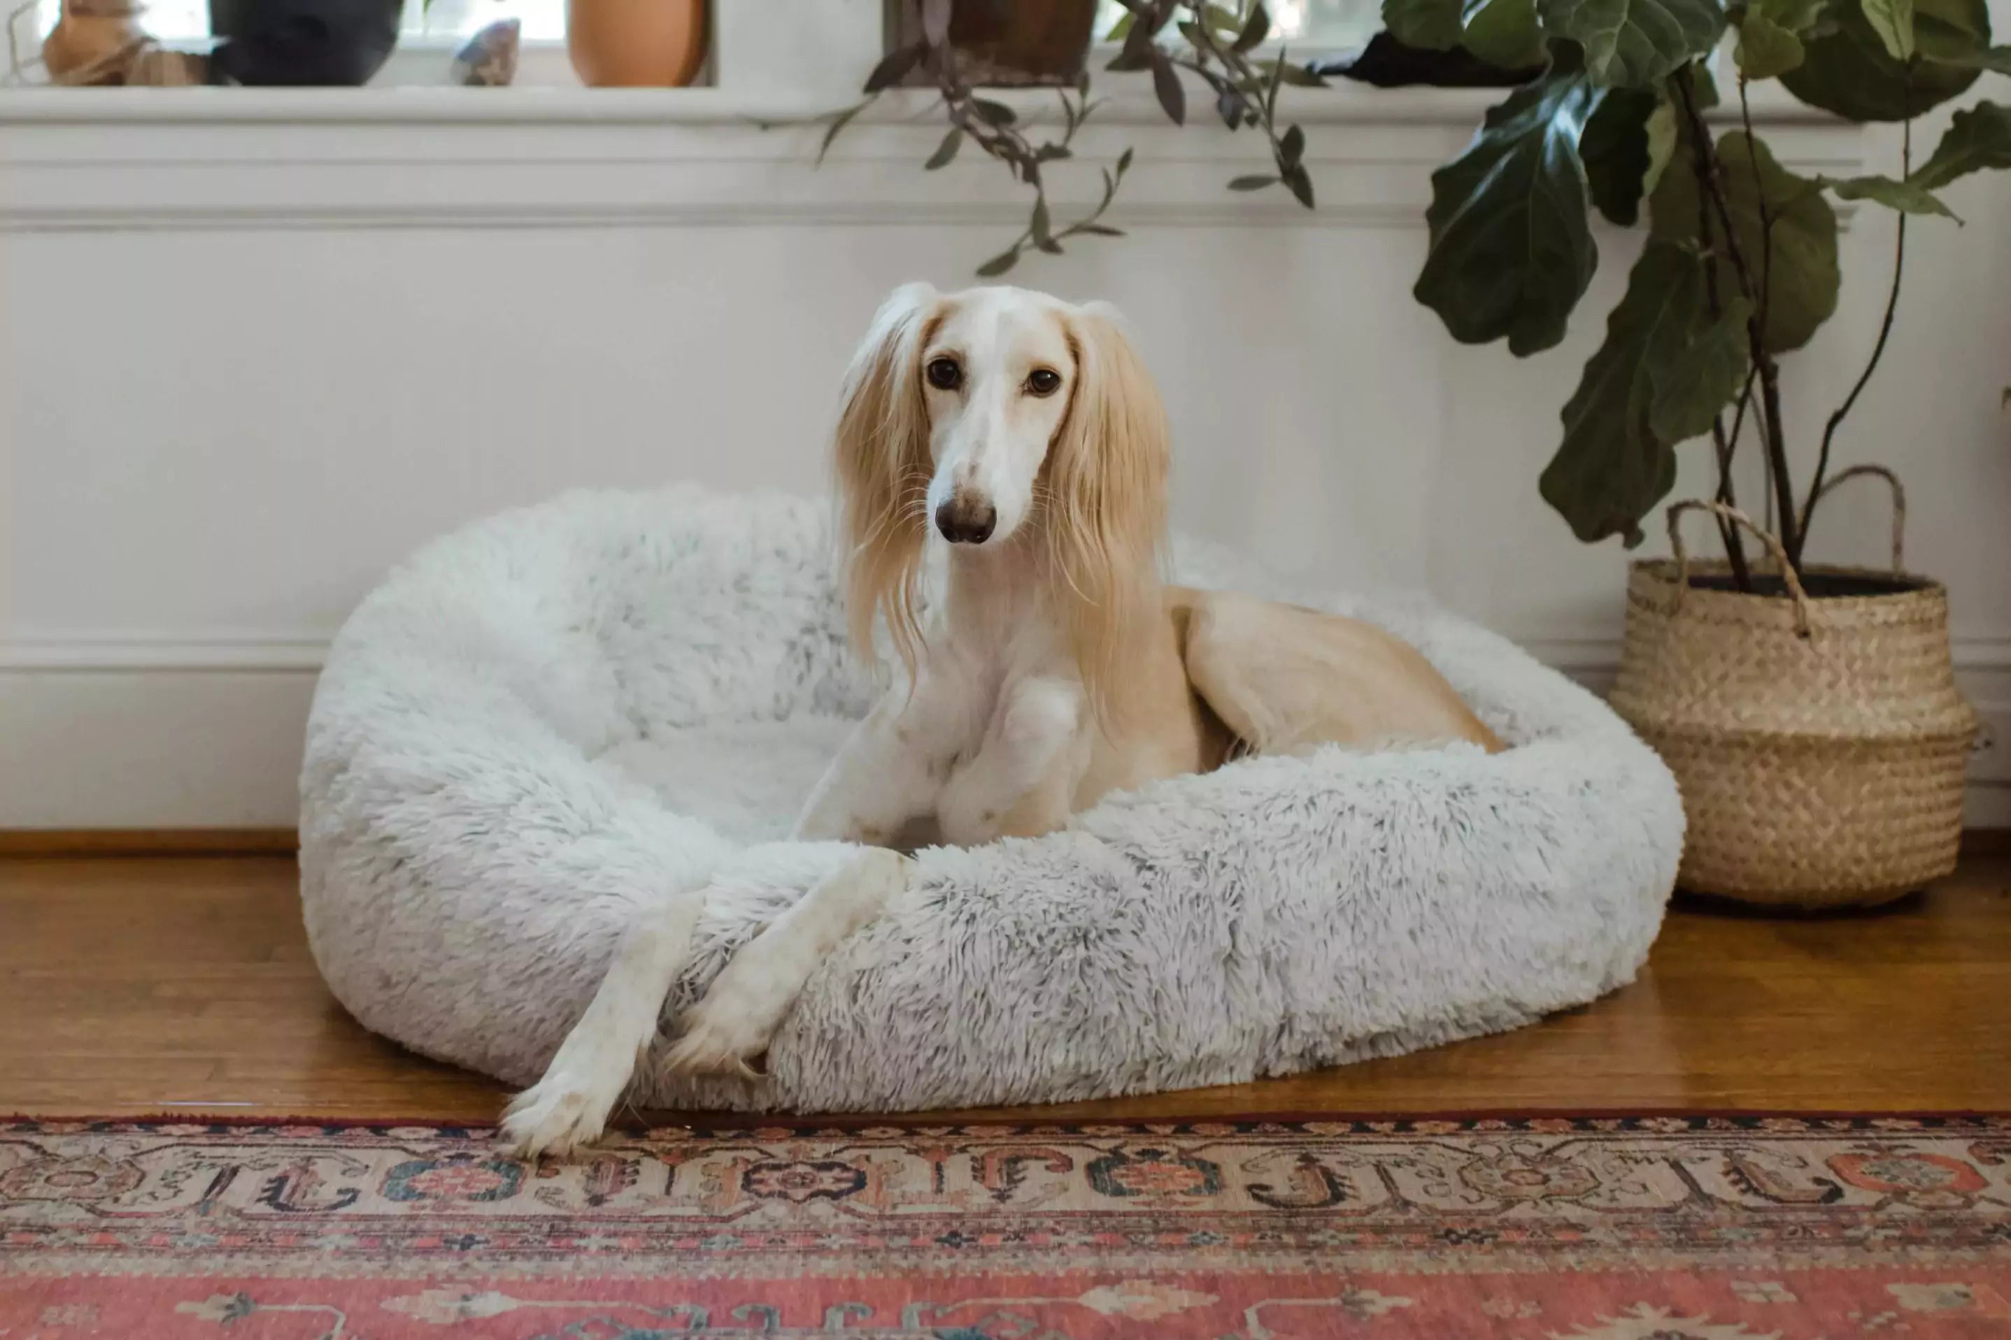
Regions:
<svg viewBox="0 0 2011 1340"><path fill-rule="evenodd" d="M754 1057L796 1002L810 972L907 888L913 862L899 852L865 848L810 886L766 930L740 946L686 1013L684 1033L664 1065L674 1075L754 1079Z"/></svg>

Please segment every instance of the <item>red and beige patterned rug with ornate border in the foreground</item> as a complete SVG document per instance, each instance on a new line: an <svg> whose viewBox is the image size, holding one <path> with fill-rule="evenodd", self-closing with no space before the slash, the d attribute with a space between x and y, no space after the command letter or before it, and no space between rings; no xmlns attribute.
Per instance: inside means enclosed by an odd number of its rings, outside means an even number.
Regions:
<svg viewBox="0 0 2011 1340"><path fill-rule="evenodd" d="M0 1121L0 1336L2011 1336L2011 1119Z"/></svg>

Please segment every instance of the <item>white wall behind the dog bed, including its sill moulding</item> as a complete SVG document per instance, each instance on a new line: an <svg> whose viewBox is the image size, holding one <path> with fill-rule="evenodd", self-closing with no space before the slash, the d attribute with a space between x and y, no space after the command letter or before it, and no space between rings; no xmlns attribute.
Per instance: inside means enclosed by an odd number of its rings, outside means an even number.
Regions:
<svg viewBox="0 0 2011 1340"><path fill-rule="evenodd" d="M290 824L320 649L386 565L573 484L820 490L877 299L961 283L1024 217L975 155L925 175L929 123L859 127L812 169L814 131L706 92L50 96L0 92L0 828ZM1138 149L1132 235L1014 277L1136 319L1182 526L1430 587L1597 681L1625 556L1577 544L1536 474L1631 245L1601 235L1565 348L1454 346L1410 283L1430 167L1482 104L1307 102L1311 215L1221 189L1251 139L1120 104L1086 155ZM1764 121L1804 169L1890 151ZM1918 227L1840 450L1904 472L1908 556L1949 581L1965 685L2011 739L2011 181L1949 199L1969 227ZM1788 374L1804 450L1868 350L1890 217L1844 249L1844 311ZM1866 492L1816 542L1876 563L1882 536ZM2011 822L2007 777L1979 755L1975 822Z"/></svg>

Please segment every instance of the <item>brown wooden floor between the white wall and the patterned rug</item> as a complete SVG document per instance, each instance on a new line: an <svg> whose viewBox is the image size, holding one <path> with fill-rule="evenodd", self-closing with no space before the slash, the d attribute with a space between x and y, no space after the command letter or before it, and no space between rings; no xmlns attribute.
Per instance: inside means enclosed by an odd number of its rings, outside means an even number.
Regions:
<svg viewBox="0 0 2011 1340"><path fill-rule="evenodd" d="M366 1035L290 858L0 860L0 1113L487 1121L475 1075ZM1038 1117L1528 1109L2011 1111L2011 860L1886 912L1679 908L1647 972L1534 1029Z"/></svg>

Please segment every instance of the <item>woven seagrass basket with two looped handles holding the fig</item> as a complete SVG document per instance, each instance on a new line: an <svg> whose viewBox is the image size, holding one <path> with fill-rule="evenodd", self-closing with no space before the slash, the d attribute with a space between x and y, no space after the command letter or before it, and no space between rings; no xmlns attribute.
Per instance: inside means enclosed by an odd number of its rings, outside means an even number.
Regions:
<svg viewBox="0 0 2011 1340"><path fill-rule="evenodd" d="M1804 567L1735 508L1669 508L1669 561L1627 579L1613 707L1675 773L1689 816L1677 884L1774 906L1876 904L1955 868L1977 721L1949 665L1949 593L1892 571ZM1828 490L1824 490L1828 492ZM1758 534L1782 595L1691 563L1677 520L1715 512Z"/></svg>

